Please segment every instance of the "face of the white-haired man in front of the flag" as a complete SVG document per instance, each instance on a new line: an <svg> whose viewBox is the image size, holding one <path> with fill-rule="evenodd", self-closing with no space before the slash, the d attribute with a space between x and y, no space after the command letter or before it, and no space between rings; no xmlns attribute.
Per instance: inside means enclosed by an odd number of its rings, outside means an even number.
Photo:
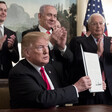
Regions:
<svg viewBox="0 0 112 112"><path fill-rule="evenodd" d="M92 18L92 22L89 24L89 30L91 31L91 34L95 38L100 38L105 29L105 23L103 22L103 19L100 16L94 16Z"/></svg>

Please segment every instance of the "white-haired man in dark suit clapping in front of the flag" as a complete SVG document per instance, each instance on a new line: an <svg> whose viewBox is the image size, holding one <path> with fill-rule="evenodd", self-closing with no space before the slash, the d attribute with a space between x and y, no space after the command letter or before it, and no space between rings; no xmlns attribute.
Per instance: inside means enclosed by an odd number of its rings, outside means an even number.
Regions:
<svg viewBox="0 0 112 112"><path fill-rule="evenodd" d="M84 51L98 54L101 72L104 72L104 75L102 74L103 80L107 87L105 92L95 93L95 96L88 91L82 92L79 104L112 104L112 44L111 37L103 35L105 19L98 13L92 14L88 20L88 28L91 31L91 35L88 38L72 39L70 42L70 49L74 49L72 51L74 57L76 57L77 73L80 74L77 77L80 78L81 75L85 75L80 49L80 45L82 45Z"/></svg>

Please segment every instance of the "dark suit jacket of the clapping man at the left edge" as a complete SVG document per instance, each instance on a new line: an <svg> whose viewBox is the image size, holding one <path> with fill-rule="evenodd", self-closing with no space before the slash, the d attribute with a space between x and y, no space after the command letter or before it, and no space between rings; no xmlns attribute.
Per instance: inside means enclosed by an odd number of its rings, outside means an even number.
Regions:
<svg viewBox="0 0 112 112"><path fill-rule="evenodd" d="M8 78L10 69L12 68L12 62L16 63L19 60L18 41L15 38L12 49L8 49L8 38L11 35L15 35L14 31L4 27L4 35L7 35L6 41L3 43L2 50L0 50L0 78Z"/></svg>

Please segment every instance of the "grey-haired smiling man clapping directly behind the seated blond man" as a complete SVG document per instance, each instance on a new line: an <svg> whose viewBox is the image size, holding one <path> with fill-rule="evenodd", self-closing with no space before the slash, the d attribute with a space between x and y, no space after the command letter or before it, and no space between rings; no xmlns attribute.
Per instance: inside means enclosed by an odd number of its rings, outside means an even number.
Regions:
<svg viewBox="0 0 112 112"><path fill-rule="evenodd" d="M66 46L67 31L64 27L56 27L57 10L52 5L43 5L40 7L38 14L39 25L36 28L24 31L22 36L31 31L50 32L49 54L50 63L56 71L63 68L68 72L68 66L73 61L73 54ZM60 72L61 73L61 72ZM66 75L63 77L66 78Z"/></svg>

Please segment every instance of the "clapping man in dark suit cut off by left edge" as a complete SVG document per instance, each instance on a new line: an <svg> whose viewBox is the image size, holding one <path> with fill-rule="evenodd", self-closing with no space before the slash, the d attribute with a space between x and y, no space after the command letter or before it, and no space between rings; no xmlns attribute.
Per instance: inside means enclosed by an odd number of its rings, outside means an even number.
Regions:
<svg viewBox="0 0 112 112"><path fill-rule="evenodd" d="M19 60L16 33L4 26L7 16L7 6L0 1L0 78L8 78L12 62Z"/></svg>

